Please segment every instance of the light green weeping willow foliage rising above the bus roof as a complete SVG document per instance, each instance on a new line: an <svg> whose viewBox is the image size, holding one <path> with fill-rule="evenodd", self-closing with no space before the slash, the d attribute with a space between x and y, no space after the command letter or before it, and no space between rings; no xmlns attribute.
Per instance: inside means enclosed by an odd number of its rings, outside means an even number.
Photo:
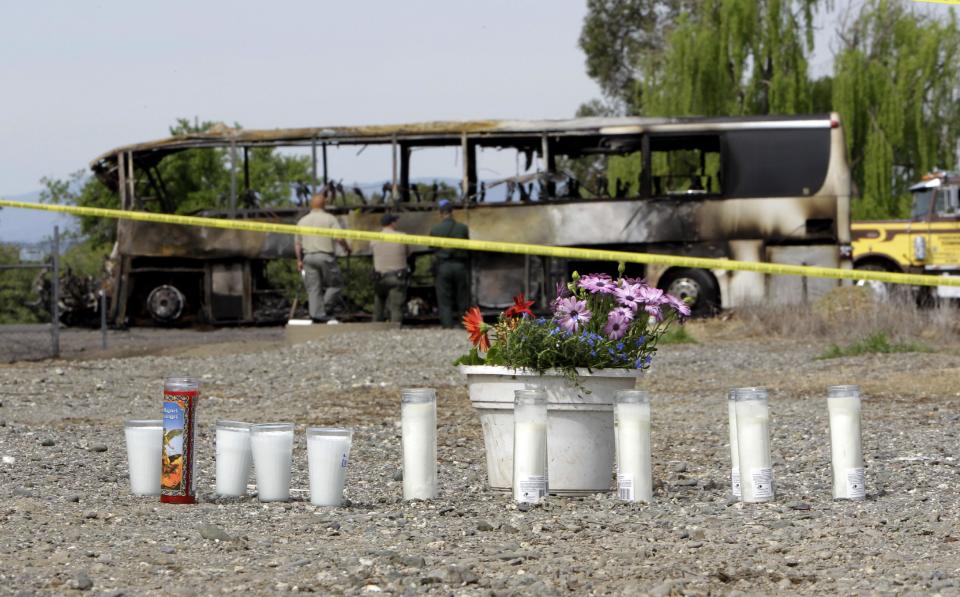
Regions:
<svg viewBox="0 0 960 597"><path fill-rule="evenodd" d="M662 55L645 57L648 115L808 112L813 12L822 0L703 0L681 15Z"/></svg>

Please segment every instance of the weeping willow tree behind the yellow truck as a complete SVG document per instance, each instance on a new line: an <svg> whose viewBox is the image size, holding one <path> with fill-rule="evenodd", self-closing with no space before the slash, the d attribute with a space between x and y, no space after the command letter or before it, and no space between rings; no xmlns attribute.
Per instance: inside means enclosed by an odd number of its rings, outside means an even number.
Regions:
<svg viewBox="0 0 960 597"><path fill-rule="evenodd" d="M960 138L960 31L900 0L871 0L840 34L833 105L860 199L855 218L909 213L908 187L954 164Z"/></svg>

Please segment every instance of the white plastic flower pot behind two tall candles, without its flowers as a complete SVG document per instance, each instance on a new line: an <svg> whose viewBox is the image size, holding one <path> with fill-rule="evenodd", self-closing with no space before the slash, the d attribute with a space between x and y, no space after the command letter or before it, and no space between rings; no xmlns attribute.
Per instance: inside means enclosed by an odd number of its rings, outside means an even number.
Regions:
<svg viewBox="0 0 960 597"><path fill-rule="evenodd" d="M613 395L629 390L638 369L578 369L580 386L559 371L461 365L470 402L480 415L492 489L510 490L513 474L513 392L542 387L547 393L550 493L584 495L613 484ZM586 390L586 391L585 391Z"/></svg>

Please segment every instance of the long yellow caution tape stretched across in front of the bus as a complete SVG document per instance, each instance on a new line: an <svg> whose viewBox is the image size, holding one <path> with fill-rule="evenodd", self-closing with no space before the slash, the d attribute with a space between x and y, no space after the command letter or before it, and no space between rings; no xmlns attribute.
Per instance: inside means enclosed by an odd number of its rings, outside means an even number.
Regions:
<svg viewBox="0 0 960 597"><path fill-rule="evenodd" d="M384 234L366 230L343 230L339 228L313 228L294 224L272 224L254 220L227 220L222 218L203 218L199 216L181 216L158 214L143 211L124 211L101 207L79 207L76 205L49 205L9 201L0 199L0 207L39 209L65 213L74 216L114 218L135 220L138 222L157 222L160 224L179 224L182 226L203 226L226 230L247 230L249 232L274 232L277 234L299 234L301 236L326 236L346 240L385 241L405 245L421 245L440 249L465 249L468 251L488 251L493 253L515 253L519 255L539 255L541 257L559 257L563 259L583 259L588 261L614 261L625 263L645 263L650 265L669 265L700 269L720 269L733 271L759 272L783 276L806 276L810 278L832 278L836 280L865 280L888 284L910 284L916 286L960 286L960 276L931 276L923 274L901 274L873 270L852 270L835 267L814 267L809 265L789 265L783 263L762 263L759 261L734 261L732 259L710 259L705 257L683 257L679 255L659 255L654 253L632 253L627 251L606 251L601 249L580 249L575 247L553 247L526 243L506 243L489 240L468 240L416 234Z"/></svg>

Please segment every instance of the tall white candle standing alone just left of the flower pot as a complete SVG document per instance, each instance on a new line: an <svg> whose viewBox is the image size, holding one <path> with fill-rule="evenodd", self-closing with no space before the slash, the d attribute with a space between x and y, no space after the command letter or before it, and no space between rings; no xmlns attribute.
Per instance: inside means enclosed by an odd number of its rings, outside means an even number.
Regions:
<svg viewBox="0 0 960 597"><path fill-rule="evenodd" d="M402 390L403 499L437 497L437 392Z"/></svg>

